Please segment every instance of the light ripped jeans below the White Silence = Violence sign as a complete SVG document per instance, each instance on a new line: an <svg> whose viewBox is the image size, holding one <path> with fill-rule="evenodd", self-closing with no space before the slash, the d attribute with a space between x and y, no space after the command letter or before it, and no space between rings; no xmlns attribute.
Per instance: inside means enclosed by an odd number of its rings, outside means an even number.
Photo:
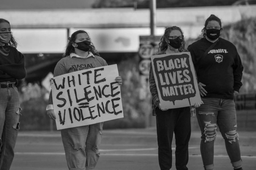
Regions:
<svg viewBox="0 0 256 170"><path fill-rule="evenodd" d="M100 157L103 122L61 130L69 170L93 169Z"/></svg>

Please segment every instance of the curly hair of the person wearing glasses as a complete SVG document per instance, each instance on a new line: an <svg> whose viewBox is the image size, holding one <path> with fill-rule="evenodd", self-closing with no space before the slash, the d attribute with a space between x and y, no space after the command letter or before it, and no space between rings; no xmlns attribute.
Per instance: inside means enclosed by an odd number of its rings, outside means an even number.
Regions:
<svg viewBox="0 0 256 170"><path fill-rule="evenodd" d="M159 46L158 52L164 51L164 50L166 50L168 48L168 44L167 44L166 40L168 39L168 37L170 35L170 32L172 30L179 30L181 35L184 36L183 31L181 30L180 27L172 26L172 27L166 28L165 31L164 31L164 35L162 36L161 41L158 44L158 46ZM179 50L179 52L186 51L185 50L185 39L184 38L183 38L182 44L181 44L181 46L180 46L180 48L178 50Z"/></svg>

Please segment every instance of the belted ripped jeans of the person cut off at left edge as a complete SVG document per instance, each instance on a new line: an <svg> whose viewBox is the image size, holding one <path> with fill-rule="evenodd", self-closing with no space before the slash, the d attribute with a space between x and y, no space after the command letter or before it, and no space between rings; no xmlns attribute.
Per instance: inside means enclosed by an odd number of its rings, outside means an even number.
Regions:
<svg viewBox="0 0 256 170"><path fill-rule="evenodd" d="M0 169L9 170L13 162L20 117L16 87L0 88Z"/></svg>

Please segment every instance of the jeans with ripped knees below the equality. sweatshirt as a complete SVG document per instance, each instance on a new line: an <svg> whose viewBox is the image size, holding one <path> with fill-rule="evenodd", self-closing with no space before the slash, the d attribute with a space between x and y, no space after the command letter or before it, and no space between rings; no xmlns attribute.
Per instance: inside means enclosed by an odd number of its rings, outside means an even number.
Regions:
<svg viewBox="0 0 256 170"><path fill-rule="evenodd" d="M201 129L201 156L205 170L213 169L214 141L217 125L225 140L225 146L234 168L242 165L238 133L236 132L236 109L233 99L202 98L203 105L196 108Z"/></svg>

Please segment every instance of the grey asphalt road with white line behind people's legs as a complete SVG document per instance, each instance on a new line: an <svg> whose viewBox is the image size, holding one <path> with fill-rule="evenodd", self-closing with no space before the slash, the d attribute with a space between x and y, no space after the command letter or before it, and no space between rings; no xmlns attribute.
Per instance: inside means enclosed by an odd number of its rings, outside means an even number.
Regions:
<svg viewBox="0 0 256 170"><path fill-rule="evenodd" d="M156 129L104 130L100 159L95 170L157 170ZM256 169L256 132L240 132L240 150L244 170ZM173 141L173 154L175 151ZM190 170L203 170L200 155L200 132L191 134L189 143ZM232 170L224 140L220 133L214 146L214 169ZM172 169L175 169L173 156ZM59 131L20 131L11 170L65 170L68 169Z"/></svg>

